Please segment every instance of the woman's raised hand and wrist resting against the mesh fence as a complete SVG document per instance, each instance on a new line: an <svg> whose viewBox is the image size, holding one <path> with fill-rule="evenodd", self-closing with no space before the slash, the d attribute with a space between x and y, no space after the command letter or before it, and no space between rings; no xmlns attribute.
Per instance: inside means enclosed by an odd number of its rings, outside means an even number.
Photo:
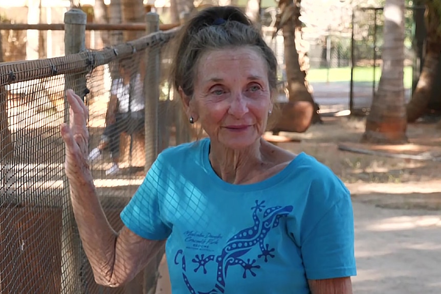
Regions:
<svg viewBox="0 0 441 294"><path fill-rule="evenodd" d="M69 102L69 126L63 123L60 127L61 137L65 144L64 168L69 182L88 180L91 177L87 162L89 131L87 131L87 117L89 110L82 99L73 90L66 91Z"/></svg>

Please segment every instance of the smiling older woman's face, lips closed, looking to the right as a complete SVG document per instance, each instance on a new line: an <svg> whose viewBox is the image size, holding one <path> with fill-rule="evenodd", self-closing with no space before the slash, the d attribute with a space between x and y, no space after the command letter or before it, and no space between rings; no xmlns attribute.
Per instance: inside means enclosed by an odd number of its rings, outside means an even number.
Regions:
<svg viewBox="0 0 441 294"><path fill-rule="evenodd" d="M233 149L252 145L272 109L266 61L250 47L205 53L197 65L194 96L184 104L213 143Z"/></svg>

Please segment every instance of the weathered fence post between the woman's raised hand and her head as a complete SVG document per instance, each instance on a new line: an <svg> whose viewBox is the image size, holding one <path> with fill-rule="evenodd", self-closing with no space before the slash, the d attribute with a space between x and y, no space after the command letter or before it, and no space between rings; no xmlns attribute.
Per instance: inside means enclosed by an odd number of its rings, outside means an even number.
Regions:
<svg viewBox="0 0 441 294"><path fill-rule="evenodd" d="M145 16L147 34L159 31L159 15L148 12ZM145 95L145 171L147 172L158 156L158 104L160 78L160 50L154 46L146 52L146 73L144 75Z"/></svg>

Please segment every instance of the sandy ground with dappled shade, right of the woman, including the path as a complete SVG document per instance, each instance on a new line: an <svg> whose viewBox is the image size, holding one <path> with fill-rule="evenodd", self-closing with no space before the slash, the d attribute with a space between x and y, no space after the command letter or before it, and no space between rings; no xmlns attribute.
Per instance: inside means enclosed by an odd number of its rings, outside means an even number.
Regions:
<svg viewBox="0 0 441 294"><path fill-rule="evenodd" d="M303 134L280 133L300 142L275 144L315 156L351 191L358 267L358 276L352 278L355 294L439 294L441 130L434 124L409 125L410 144L401 146L361 145L363 131L362 119L325 118L324 124ZM421 158L341 151L341 145ZM170 293L166 270L164 260L158 294Z"/></svg>

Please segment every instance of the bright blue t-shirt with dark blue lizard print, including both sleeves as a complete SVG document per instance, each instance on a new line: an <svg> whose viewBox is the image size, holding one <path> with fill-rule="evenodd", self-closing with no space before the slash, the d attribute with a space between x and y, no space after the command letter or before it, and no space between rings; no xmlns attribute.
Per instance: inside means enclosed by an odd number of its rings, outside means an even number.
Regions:
<svg viewBox="0 0 441 294"><path fill-rule="evenodd" d="M121 218L167 239L173 294L310 293L308 279L356 275L350 194L327 167L300 153L249 185L220 179L209 139L163 151Z"/></svg>

